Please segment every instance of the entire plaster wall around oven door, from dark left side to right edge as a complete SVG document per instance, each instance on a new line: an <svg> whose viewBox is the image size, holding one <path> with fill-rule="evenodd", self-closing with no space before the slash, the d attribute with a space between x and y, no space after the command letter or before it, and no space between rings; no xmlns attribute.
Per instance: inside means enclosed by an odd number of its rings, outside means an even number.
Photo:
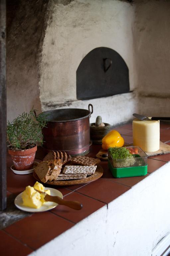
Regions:
<svg viewBox="0 0 170 256"><path fill-rule="evenodd" d="M36 9L34 1L19 4L7 35L7 119L29 112L33 105L45 111L87 109L89 103L94 105L91 122L101 115L104 122L116 125L131 120L133 112L169 116L170 1L63 2L49 1L42 48L41 14L45 15L38 8L40 1ZM135 93L79 101L77 67L88 52L101 46L124 58ZM42 59L37 59L38 51Z"/></svg>

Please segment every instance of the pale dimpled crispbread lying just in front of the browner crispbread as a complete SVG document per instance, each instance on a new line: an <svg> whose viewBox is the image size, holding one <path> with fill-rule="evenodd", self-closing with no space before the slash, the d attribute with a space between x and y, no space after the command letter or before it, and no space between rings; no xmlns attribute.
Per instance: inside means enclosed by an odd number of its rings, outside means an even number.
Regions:
<svg viewBox="0 0 170 256"><path fill-rule="evenodd" d="M91 175L94 174L96 171L97 165L65 165L63 169L63 173L65 174L87 174Z"/></svg>

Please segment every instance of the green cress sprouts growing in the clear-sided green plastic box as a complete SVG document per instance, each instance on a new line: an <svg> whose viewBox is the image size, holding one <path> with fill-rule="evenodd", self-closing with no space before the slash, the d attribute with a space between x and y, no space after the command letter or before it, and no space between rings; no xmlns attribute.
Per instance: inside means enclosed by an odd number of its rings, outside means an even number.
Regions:
<svg viewBox="0 0 170 256"><path fill-rule="evenodd" d="M134 157L126 147L110 147L109 153L113 159L126 159Z"/></svg>

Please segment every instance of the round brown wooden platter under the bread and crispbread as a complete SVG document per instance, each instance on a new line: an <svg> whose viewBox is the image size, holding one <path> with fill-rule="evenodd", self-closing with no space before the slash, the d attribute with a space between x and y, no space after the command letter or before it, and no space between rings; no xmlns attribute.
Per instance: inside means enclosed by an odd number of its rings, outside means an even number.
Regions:
<svg viewBox="0 0 170 256"><path fill-rule="evenodd" d="M97 165L95 173L88 176L87 178L76 179L76 180L55 180L55 181L49 181L49 182L47 181L47 182L45 182L45 184L55 185L55 186L69 186L69 185L85 184L85 183L99 179L100 177L102 177L102 175L103 175L103 168L102 168L102 166ZM37 174L35 172L33 172L33 176L36 180L41 182L41 180L39 179L39 177L37 176Z"/></svg>

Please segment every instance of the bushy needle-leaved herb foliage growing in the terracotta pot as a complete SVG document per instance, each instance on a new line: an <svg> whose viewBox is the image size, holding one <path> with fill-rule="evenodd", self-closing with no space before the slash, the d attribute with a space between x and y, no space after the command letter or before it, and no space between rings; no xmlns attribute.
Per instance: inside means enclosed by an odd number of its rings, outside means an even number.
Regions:
<svg viewBox="0 0 170 256"><path fill-rule="evenodd" d="M7 122L7 141L10 149L23 150L31 148L35 143L43 143L42 128L47 123L46 116L35 115L35 109L30 113L22 113L11 123Z"/></svg>

